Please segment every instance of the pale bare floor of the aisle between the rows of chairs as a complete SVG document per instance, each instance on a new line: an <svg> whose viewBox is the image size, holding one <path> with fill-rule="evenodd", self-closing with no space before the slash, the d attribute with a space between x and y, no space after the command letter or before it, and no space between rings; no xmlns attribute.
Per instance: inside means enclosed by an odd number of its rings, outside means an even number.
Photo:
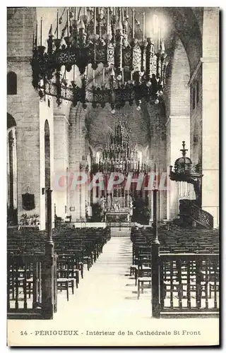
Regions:
<svg viewBox="0 0 226 353"><path fill-rule="evenodd" d="M137 299L134 276L129 276L131 260L130 238L112 237L90 271L85 270L69 303L62 302L62 294L58 296L56 316L65 316L67 309L71 313L73 307L79 322L150 318L150 289Z"/></svg>

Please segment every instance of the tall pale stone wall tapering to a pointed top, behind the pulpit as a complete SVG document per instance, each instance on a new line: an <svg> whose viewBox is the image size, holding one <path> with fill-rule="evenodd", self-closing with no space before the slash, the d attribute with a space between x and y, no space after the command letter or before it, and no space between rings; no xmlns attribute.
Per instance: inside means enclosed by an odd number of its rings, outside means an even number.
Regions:
<svg viewBox="0 0 226 353"><path fill-rule="evenodd" d="M190 66L189 59L182 44L177 38L174 55L167 68L167 90L165 104L167 113L167 172L169 166L174 166L175 160L180 157L182 140L186 143L190 155ZM179 213L179 184L169 180L167 191L167 219L172 220Z"/></svg>

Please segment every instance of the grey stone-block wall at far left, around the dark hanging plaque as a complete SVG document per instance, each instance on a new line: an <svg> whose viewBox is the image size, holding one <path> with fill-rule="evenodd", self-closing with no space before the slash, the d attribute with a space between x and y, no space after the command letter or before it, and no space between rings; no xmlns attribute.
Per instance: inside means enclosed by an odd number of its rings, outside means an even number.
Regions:
<svg viewBox="0 0 226 353"><path fill-rule="evenodd" d="M18 220L20 215L40 215L39 97L32 87L32 33L35 8L7 9L7 72L17 75L17 95L7 96L7 112L16 120L18 158ZM23 210L22 194L35 194L35 209Z"/></svg>

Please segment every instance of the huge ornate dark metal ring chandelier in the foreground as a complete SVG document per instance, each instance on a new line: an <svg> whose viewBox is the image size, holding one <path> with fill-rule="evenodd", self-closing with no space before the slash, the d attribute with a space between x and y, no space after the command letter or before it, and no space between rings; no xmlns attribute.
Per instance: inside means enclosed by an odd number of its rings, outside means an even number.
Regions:
<svg viewBox="0 0 226 353"><path fill-rule="evenodd" d="M160 26L155 50L153 39L145 38L145 13L142 26L134 8L64 8L64 13L57 11L57 29L51 25L47 47L42 19L40 29L37 26L31 64L32 85L40 99L50 95L57 97L58 105L63 100L74 106L81 102L84 109L88 103L109 103L113 114L126 102L136 102L140 110L143 98L160 101L167 66Z"/></svg>

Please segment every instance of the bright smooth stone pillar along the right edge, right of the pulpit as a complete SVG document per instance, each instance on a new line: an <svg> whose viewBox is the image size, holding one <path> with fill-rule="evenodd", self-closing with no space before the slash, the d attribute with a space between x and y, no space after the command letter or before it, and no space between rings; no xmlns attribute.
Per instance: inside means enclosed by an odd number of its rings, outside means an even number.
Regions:
<svg viewBox="0 0 226 353"><path fill-rule="evenodd" d="M219 225L219 8L203 12L202 208Z"/></svg>

